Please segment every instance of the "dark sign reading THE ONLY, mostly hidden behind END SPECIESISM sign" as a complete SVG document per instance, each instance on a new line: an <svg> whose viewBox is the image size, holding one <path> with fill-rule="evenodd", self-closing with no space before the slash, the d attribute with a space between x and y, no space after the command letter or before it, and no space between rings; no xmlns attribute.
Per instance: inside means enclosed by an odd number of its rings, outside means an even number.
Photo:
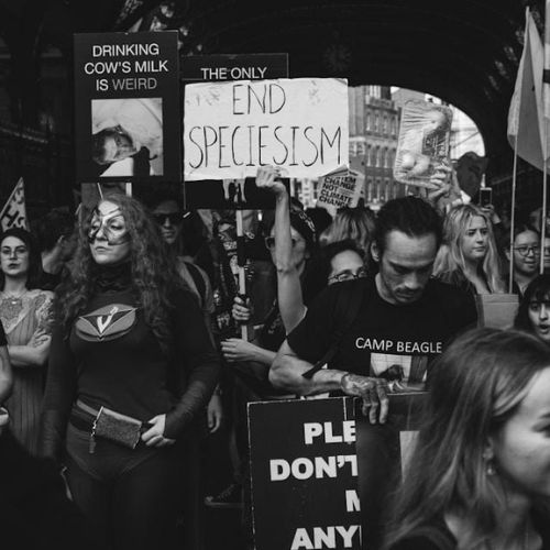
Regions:
<svg viewBox="0 0 550 550"><path fill-rule="evenodd" d="M288 54L191 55L182 58L184 84L288 77Z"/></svg>

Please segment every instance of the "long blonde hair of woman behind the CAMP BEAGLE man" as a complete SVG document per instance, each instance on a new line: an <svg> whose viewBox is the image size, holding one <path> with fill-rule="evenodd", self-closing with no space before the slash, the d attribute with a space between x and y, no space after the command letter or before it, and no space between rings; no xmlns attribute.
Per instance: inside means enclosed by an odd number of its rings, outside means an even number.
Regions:
<svg viewBox="0 0 550 550"><path fill-rule="evenodd" d="M505 284L498 255L493 223L487 215L475 205L460 205L452 208L443 222L443 243L433 265L433 276L448 283L468 280L466 263L461 241L473 218L482 218L487 226L487 253L479 268L483 272L492 294L505 293Z"/></svg>

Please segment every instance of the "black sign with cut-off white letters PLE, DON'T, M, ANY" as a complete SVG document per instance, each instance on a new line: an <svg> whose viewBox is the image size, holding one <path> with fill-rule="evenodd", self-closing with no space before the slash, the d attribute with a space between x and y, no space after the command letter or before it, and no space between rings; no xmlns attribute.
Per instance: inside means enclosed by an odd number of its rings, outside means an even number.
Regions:
<svg viewBox="0 0 550 550"><path fill-rule="evenodd" d="M249 405L256 550L361 548L353 399Z"/></svg>

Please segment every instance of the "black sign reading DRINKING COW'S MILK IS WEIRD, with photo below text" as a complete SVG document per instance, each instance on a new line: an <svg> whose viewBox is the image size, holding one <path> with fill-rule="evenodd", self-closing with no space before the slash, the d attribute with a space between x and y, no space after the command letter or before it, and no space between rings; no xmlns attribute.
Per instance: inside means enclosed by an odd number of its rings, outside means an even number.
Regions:
<svg viewBox="0 0 550 550"><path fill-rule="evenodd" d="M77 182L180 182L177 32L75 35Z"/></svg>

